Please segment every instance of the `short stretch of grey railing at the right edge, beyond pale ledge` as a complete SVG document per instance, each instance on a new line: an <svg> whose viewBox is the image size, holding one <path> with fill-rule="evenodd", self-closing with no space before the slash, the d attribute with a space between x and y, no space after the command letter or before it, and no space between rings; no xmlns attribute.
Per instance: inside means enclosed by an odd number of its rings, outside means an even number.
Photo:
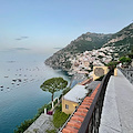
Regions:
<svg viewBox="0 0 133 133"><path fill-rule="evenodd" d="M130 70L130 69L121 69L121 72L125 75L125 78L133 84L133 69Z"/></svg>

